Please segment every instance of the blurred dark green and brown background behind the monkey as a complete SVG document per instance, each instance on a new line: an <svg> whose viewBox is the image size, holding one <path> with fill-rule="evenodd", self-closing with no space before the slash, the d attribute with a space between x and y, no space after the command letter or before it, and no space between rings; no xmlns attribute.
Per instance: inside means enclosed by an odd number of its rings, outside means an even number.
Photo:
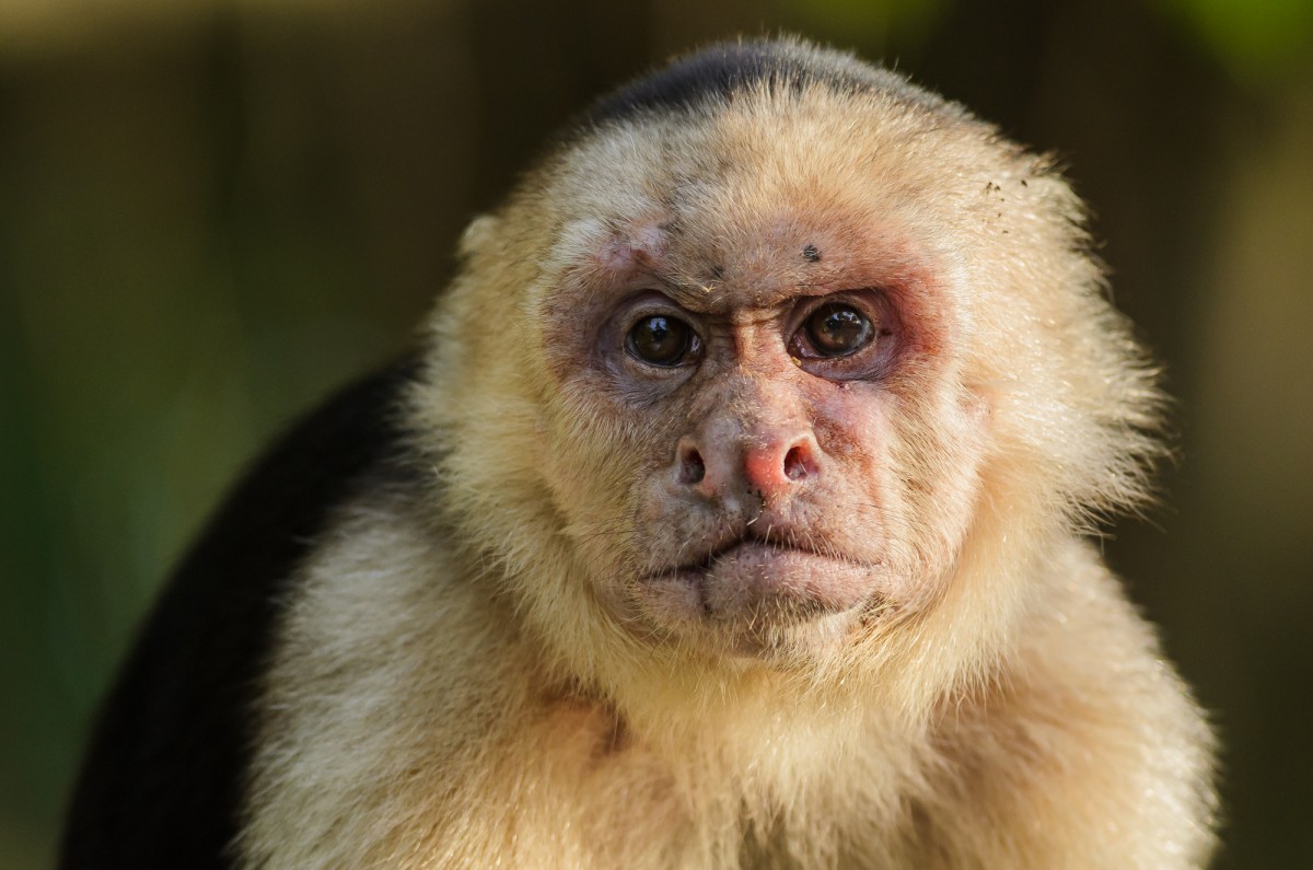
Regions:
<svg viewBox="0 0 1313 870"><path fill-rule="evenodd" d="M0 0L0 866L239 467L410 340L544 135L788 29L1056 150L1180 464L1106 544L1226 743L1226 867L1313 866L1309 0Z"/></svg>

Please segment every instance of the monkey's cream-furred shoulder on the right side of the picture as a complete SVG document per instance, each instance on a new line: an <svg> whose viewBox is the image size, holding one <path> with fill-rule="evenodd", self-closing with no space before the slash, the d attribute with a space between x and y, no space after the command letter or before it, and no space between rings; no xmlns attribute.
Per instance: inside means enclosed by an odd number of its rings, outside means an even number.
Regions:
<svg viewBox="0 0 1313 870"><path fill-rule="evenodd" d="M947 866L1203 866L1213 739L1154 627L1088 541L1036 581L1010 654L939 707L919 836Z"/></svg>

